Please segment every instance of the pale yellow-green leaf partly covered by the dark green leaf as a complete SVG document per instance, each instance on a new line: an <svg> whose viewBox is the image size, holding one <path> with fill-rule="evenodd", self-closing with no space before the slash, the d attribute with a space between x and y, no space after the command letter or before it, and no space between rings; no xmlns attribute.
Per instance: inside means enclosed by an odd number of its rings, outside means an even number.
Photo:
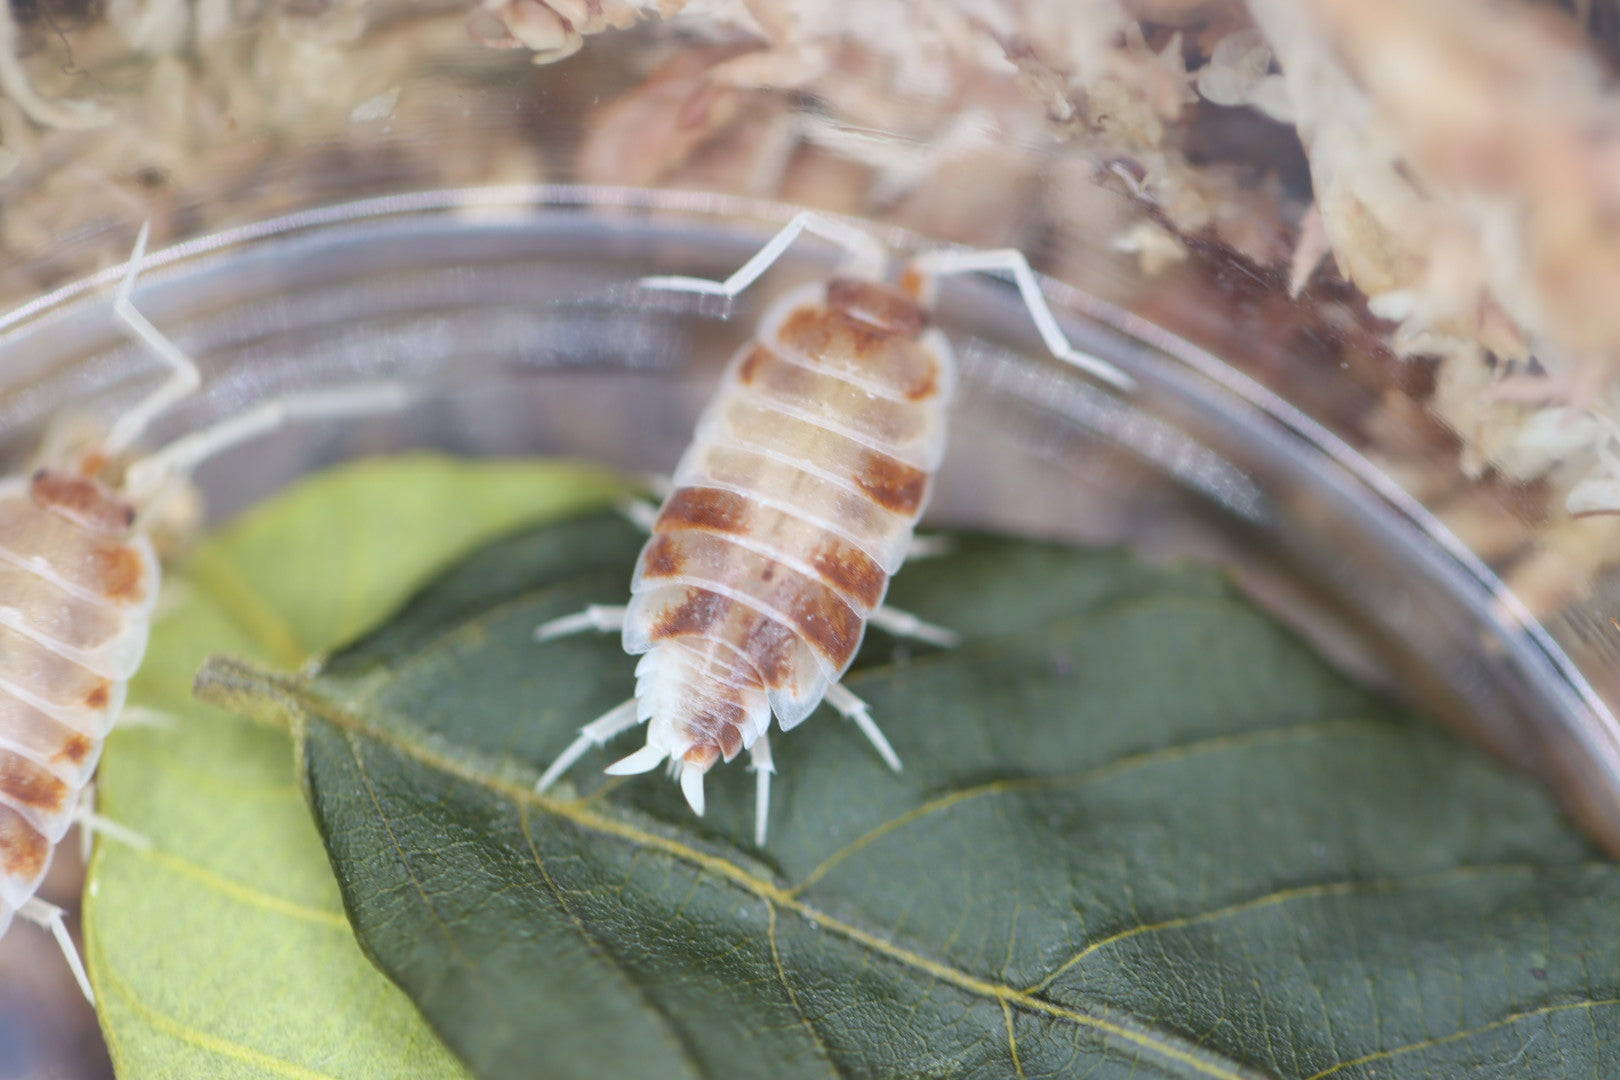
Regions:
<svg viewBox="0 0 1620 1080"><path fill-rule="evenodd" d="M617 487L565 465L410 457L321 476L246 515L172 581L100 810L152 842L104 842L86 939L125 1078L458 1077L410 1001L361 955L282 732L196 703L228 649L300 667L374 625L470 547L601 507Z"/></svg>

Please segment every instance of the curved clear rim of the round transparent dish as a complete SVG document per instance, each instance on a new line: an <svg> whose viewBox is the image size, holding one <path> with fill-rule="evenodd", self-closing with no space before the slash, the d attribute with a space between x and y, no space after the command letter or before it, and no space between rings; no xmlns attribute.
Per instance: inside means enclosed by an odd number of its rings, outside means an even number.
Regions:
<svg viewBox="0 0 1620 1080"><path fill-rule="evenodd" d="M190 238L147 253L141 269L164 269L253 241L377 219L463 214L489 220L501 214L523 215L556 209L656 214L664 215L658 219L661 225L667 223L671 215L688 215L708 219L710 228L713 222L724 220L727 230L740 230L739 222L747 220L758 222L758 235L763 235L770 227L786 223L804 207L701 191L591 185L431 189L298 210ZM893 225L844 220L875 235L894 251L940 246ZM104 293L125 272L123 262L105 267L5 313L0 316L0 347L28 334L39 321L60 309ZM1129 368L1144 384L1171 387L1183 398L1197 400L1202 408L1225 413L1234 423L1244 423L1239 413L1252 410L1264 421L1257 427L1264 429L1264 437L1272 442L1275 452L1304 461L1317 483L1330 486L1340 499L1353 504L1358 515L1377 521L1385 538L1393 539L1408 560L1440 580L1450 594L1460 597L1464 607L1492 630L1492 636L1511 653L1513 662L1558 709L1565 735L1571 737L1581 753L1602 771L1610 792L1620 792L1620 722L1609 703L1547 627L1418 499L1324 424L1225 364L1218 356L1079 288L1048 277L1040 277L1040 283L1058 309L1059 319L1089 319L1134 345L1121 366ZM1620 823L1620 806L1605 810L1601 816Z"/></svg>

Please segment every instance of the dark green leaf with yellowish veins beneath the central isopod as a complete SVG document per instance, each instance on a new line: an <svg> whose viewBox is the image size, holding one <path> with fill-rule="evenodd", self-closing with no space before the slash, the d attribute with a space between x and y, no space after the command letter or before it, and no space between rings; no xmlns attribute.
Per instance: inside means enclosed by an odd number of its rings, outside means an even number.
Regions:
<svg viewBox="0 0 1620 1080"><path fill-rule="evenodd" d="M1529 782L1325 669L1213 573L964 539L823 711L687 811L573 729L629 696L640 538L458 565L314 678L201 682L296 733L356 933L481 1077L1620 1075L1620 873Z"/></svg>

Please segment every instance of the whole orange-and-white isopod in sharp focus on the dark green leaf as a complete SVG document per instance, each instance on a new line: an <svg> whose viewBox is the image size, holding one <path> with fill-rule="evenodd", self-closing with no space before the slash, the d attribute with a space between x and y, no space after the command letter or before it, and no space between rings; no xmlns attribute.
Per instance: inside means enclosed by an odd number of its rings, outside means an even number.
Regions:
<svg viewBox="0 0 1620 1080"><path fill-rule="evenodd" d="M782 296L732 359L663 505L640 515L651 536L630 604L591 606L536 630L539 640L619 630L625 651L642 656L635 696L580 729L541 776L541 792L586 750L646 721L646 745L608 772L645 772L667 759L701 814L703 774L748 750L763 844L771 714L786 732L823 699L899 769L867 704L838 680L867 622L936 644L956 640L881 606L944 455L956 361L930 327L940 277L1011 272L1053 355L1134 387L1068 343L1029 262L1011 249L922 254L889 285L872 236L800 214L724 282L654 277L642 285L735 296L802 232L842 246L846 269Z"/></svg>

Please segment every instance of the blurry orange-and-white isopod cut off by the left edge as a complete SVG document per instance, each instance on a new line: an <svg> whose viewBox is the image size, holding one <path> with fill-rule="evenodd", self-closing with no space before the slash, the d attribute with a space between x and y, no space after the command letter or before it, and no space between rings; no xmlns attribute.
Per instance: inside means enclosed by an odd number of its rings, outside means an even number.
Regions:
<svg viewBox="0 0 1620 1080"><path fill-rule="evenodd" d="M62 908L34 894L75 821L117 831L89 813L87 784L146 651L162 580L151 510L172 481L246 439L407 400L392 382L285 397L131 460L152 419L201 384L130 300L146 238L143 225L113 313L167 377L91 445L47 450L31 474L0 479L0 934L13 915L50 929L91 1001Z"/></svg>

